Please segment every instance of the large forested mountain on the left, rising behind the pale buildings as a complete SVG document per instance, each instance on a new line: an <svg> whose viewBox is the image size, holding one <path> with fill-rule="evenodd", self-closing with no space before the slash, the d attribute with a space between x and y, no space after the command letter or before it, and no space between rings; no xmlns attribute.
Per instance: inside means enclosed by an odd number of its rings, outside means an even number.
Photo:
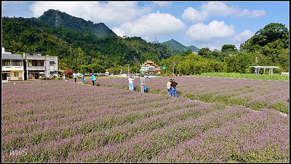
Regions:
<svg viewBox="0 0 291 164"><path fill-rule="evenodd" d="M39 18L2 17L2 47L16 54L32 51L58 56L60 69L73 72L127 70L126 64L139 72L140 63L146 60L159 63L174 55L166 45L147 43L141 37L124 39L103 23L61 12L57 12L61 21L55 27L55 13L49 10Z"/></svg>

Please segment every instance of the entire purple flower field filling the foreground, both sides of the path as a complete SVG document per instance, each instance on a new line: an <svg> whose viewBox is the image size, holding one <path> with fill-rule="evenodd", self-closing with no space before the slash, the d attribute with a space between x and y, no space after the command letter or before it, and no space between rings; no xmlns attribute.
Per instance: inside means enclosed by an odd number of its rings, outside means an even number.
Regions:
<svg viewBox="0 0 291 164"><path fill-rule="evenodd" d="M1 161L290 161L288 82L175 79L177 99L167 78L146 78L149 93L138 92L139 79L129 91L127 78L3 83Z"/></svg>

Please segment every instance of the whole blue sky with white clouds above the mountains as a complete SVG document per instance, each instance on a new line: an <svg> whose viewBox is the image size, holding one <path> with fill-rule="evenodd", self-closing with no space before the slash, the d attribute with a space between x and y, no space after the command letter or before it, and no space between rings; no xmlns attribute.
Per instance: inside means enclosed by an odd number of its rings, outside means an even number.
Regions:
<svg viewBox="0 0 291 164"><path fill-rule="evenodd" d="M175 39L211 50L239 48L269 23L289 29L289 1L2 1L2 16L38 17L49 9L103 22L120 36Z"/></svg>

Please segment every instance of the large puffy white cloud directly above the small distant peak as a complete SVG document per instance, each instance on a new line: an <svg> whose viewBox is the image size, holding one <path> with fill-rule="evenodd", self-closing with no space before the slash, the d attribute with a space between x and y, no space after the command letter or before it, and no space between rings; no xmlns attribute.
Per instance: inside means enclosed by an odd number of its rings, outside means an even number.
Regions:
<svg viewBox="0 0 291 164"><path fill-rule="evenodd" d="M186 29L185 23L173 15L165 13L151 13L134 21L128 21L112 30L119 36L141 36L150 40L155 36L179 33Z"/></svg>

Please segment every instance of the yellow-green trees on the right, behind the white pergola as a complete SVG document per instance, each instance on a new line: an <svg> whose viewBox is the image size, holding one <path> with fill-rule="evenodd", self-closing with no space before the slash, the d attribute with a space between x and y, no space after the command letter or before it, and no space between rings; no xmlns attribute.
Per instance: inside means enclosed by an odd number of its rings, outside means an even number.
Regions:
<svg viewBox="0 0 291 164"><path fill-rule="evenodd" d="M257 58L257 60L256 60ZM257 62L256 62L257 61ZM175 62L175 66L174 66ZM223 45L221 50L201 48L160 62L163 74L194 75L208 72L254 73L249 66L277 66L274 73L289 72L289 31L285 25L270 23L240 45ZM174 70L173 70L174 69Z"/></svg>

